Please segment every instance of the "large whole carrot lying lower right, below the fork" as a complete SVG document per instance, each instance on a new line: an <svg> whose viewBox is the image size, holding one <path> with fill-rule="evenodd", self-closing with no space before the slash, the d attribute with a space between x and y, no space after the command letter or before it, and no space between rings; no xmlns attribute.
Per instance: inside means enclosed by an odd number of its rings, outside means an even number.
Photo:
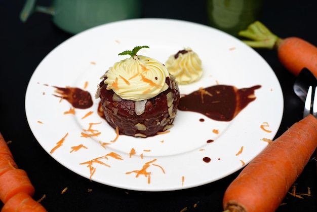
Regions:
<svg viewBox="0 0 317 212"><path fill-rule="evenodd" d="M228 186L223 209L275 211L317 147L317 119L308 115L269 144Z"/></svg>

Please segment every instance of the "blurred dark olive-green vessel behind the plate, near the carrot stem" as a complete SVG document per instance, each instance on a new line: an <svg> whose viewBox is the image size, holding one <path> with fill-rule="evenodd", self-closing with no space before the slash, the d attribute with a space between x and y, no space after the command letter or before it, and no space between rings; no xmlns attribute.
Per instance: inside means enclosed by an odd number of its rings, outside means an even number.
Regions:
<svg viewBox="0 0 317 212"><path fill-rule="evenodd" d="M208 0L208 24L237 37L259 19L262 6L263 0Z"/></svg>

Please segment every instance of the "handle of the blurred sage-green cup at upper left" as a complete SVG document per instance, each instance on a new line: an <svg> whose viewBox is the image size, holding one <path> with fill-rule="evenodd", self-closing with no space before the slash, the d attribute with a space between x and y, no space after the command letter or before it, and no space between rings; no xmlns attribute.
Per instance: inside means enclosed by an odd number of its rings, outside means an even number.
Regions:
<svg viewBox="0 0 317 212"><path fill-rule="evenodd" d="M36 0L26 0L24 7L20 13L20 20L25 22L33 12L41 12L54 15L53 7L42 7L35 5Z"/></svg>

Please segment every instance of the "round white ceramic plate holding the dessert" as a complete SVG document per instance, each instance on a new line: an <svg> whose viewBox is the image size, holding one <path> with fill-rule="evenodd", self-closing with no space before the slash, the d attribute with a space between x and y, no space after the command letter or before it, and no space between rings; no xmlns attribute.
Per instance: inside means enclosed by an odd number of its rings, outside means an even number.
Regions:
<svg viewBox="0 0 317 212"><path fill-rule="evenodd" d="M99 100L75 115L64 115L71 107L54 94L58 87L86 88L95 95L100 77L118 56L135 46L146 55L165 61L178 50L190 47L203 61L204 75L196 83L179 86L181 94L200 87L225 84L237 88L261 85L251 102L230 122L213 121L199 113L178 111L170 133L148 138L121 135L97 115ZM134 19L94 27L68 39L38 65L30 79L25 99L26 116L39 144L59 163L93 181L129 190L168 191L196 187L221 179L249 163L267 146L262 138L272 139L283 114L283 94L272 69L253 49L217 29L179 20ZM93 114L85 119L88 112ZM200 119L204 119L201 122ZM83 129L100 132L82 137ZM261 129L261 125L269 126ZM213 133L218 129L219 134ZM61 147L50 151L65 137ZM214 139L213 143L207 140ZM100 143L109 143L104 145ZM72 147L83 145L78 151ZM241 147L243 151L237 154ZM130 157L131 149L135 155ZM116 159L110 153L116 153ZM237 155L236 155L237 154ZM141 157L143 155L143 158ZM101 158L99 158L101 157ZM211 161L206 163L204 157ZM99 158L91 167L80 164ZM153 161L155 160L155 161ZM149 162L149 163L147 163ZM145 172L138 171L148 164ZM106 164L106 165L105 165ZM150 178L148 177L150 176Z"/></svg>

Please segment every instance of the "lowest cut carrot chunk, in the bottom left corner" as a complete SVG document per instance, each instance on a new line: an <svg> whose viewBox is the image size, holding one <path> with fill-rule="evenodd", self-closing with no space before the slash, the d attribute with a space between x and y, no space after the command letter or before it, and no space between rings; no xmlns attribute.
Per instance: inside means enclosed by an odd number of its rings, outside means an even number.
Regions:
<svg viewBox="0 0 317 212"><path fill-rule="evenodd" d="M1 209L1 212L45 212L43 205L24 192L12 196Z"/></svg>

